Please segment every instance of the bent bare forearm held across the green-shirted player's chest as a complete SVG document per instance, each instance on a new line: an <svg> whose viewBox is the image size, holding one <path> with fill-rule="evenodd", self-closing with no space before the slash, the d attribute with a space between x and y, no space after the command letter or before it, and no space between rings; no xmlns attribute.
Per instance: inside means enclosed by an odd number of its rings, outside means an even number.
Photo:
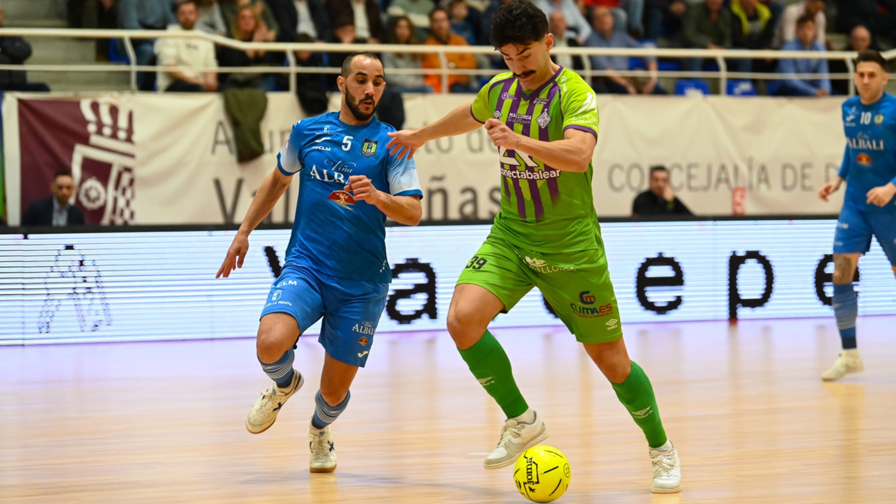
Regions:
<svg viewBox="0 0 896 504"><path fill-rule="evenodd" d="M566 172L584 172L594 156L598 139L590 132L568 129L563 140L542 141L513 132L497 119L486 121L486 130L495 147L520 150L547 166Z"/></svg>

